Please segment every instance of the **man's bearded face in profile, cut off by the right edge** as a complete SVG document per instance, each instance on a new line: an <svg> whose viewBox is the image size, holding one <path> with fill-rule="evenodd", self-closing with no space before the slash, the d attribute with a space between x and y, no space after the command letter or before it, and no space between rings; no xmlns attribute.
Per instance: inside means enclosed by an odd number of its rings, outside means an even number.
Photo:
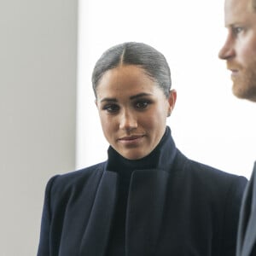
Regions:
<svg viewBox="0 0 256 256"><path fill-rule="evenodd" d="M219 58L231 71L233 93L256 102L256 11L252 0L225 0L226 42Z"/></svg>

